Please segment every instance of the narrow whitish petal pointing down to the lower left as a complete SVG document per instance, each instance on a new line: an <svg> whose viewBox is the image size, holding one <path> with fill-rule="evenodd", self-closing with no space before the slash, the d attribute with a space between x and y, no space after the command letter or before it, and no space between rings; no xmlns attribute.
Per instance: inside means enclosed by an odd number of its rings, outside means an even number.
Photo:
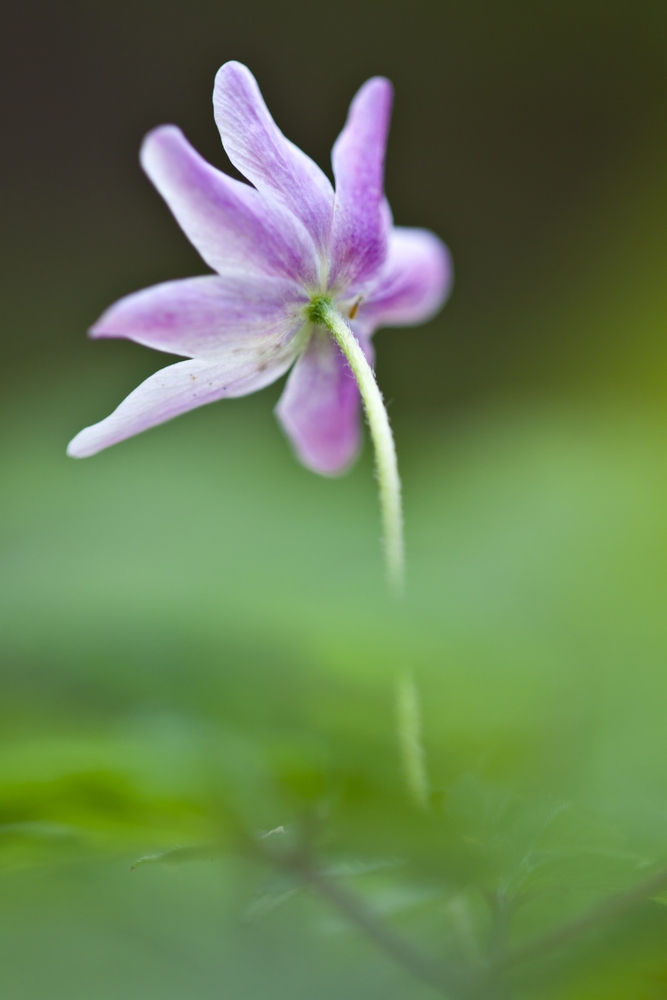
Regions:
<svg viewBox="0 0 667 1000"><path fill-rule="evenodd" d="M294 360L293 344L272 357L244 357L211 362L180 361L163 368L142 382L114 412L70 441L67 454L87 458L103 448L139 434L156 424L194 410L217 399L247 396L264 388L289 368Z"/></svg>

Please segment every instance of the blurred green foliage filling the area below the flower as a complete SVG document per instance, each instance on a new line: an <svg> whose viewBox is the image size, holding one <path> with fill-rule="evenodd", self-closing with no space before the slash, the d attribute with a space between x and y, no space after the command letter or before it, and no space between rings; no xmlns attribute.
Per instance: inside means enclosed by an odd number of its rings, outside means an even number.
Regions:
<svg viewBox="0 0 667 1000"><path fill-rule="evenodd" d="M62 399L48 412L70 420ZM554 405L404 433L402 610L367 463L340 482L290 465L266 400L79 465L50 416L13 427L11 995L162 1000L186 967L201 997L221 969L250 1000L429 995L285 868L304 842L378 919L473 970L667 864L664 414ZM425 802L401 758L408 673ZM502 996L662 996L653 896L508 966Z"/></svg>

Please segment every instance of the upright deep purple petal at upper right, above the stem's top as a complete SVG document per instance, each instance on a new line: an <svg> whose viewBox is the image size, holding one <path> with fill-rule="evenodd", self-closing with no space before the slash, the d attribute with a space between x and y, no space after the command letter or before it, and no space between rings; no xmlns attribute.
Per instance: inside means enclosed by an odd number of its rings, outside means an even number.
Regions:
<svg viewBox="0 0 667 1000"><path fill-rule="evenodd" d="M368 80L352 101L345 128L333 147L332 284L349 286L367 280L386 256L384 159L392 97L389 80Z"/></svg>

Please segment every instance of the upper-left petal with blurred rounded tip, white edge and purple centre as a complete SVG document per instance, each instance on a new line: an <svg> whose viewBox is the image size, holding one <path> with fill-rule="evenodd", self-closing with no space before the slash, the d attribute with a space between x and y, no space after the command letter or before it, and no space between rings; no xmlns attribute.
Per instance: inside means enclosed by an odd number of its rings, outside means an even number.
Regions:
<svg viewBox="0 0 667 1000"><path fill-rule="evenodd" d="M212 167L174 125L148 133L141 164L214 271L250 268L317 280L315 246L303 226L280 204Z"/></svg>

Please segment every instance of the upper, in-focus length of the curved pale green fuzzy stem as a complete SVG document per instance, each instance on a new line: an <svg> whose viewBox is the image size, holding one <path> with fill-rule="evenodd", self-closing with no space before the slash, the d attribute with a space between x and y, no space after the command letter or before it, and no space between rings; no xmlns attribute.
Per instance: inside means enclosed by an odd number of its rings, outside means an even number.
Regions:
<svg viewBox="0 0 667 1000"><path fill-rule="evenodd" d="M394 591L400 595L403 591L405 573L401 480L398 475L394 436L391 432L382 393L359 341L338 310L322 298L314 304L312 316L317 322L323 323L327 327L347 358L359 386L375 448L387 576Z"/></svg>

